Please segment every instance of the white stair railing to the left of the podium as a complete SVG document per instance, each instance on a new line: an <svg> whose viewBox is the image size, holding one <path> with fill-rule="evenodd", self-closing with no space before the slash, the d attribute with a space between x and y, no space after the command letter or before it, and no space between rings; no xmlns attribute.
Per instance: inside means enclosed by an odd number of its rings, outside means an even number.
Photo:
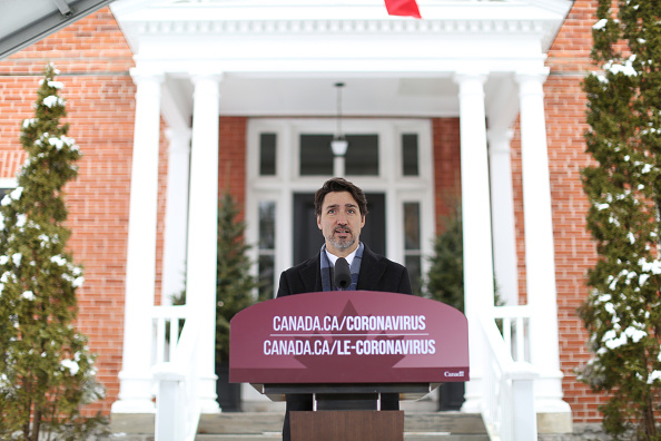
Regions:
<svg viewBox="0 0 661 441"><path fill-rule="evenodd" d="M156 441L194 441L200 416L197 394L198 321L186 320L184 306L156 306L156 363L151 369L157 383ZM184 322L181 333L179 325Z"/></svg>

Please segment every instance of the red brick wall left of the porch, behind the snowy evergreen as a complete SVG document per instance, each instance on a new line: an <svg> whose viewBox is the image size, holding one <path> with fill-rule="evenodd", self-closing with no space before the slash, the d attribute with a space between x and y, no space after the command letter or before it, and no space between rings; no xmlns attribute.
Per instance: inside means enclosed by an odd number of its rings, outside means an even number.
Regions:
<svg viewBox="0 0 661 441"><path fill-rule="evenodd" d="M65 84L69 136L83 154L67 187L69 246L85 266L78 290L79 330L98 353L98 379L109 412L117 400L124 339L124 295L135 87L132 55L109 9L102 9L0 61L0 177L13 177L20 124L30 118L43 67L52 61Z"/></svg>

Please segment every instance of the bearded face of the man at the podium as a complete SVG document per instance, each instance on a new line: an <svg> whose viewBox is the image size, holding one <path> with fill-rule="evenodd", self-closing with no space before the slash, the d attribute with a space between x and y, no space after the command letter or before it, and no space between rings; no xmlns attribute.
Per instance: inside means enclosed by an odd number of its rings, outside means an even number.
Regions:
<svg viewBox="0 0 661 441"><path fill-rule="evenodd" d="M345 257L358 247L365 216L361 215L358 204L351 193L332 192L324 197L317 226L326 239L326 249Z"/></svg>

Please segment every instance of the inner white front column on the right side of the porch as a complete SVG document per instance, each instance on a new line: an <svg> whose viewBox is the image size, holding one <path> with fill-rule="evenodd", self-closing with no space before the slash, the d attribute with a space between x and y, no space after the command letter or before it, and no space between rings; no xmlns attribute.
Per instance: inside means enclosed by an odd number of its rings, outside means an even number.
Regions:
<svg viewBox="0 0 661 441"><path fill-rule="evenodd" d="M493 258L489 161L483 75L457 75L460 86L460 136L462 227L464 237L464 304L468 318L471 381L466 383L465 412L481 411L484 345L479 317L493 308Z"/></svg>

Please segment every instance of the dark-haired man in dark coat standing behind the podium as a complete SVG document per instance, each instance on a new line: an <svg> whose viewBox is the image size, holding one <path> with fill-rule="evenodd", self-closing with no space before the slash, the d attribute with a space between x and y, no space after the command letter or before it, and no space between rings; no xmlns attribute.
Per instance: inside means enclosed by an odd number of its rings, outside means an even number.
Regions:
<svg viewBox="0 0 661 441"><path fill-rule="evenodd" d="M367 199L356 185L328 179L315 194L317 226L324 236L318 254L280 275L277 297L326 291L383 291L413 294L408 271L361 243ZM290 440L289 412L312 411L313 396L288 394L283 440ZM382 394L382 410L398 410L396 393Z"/></svg>

